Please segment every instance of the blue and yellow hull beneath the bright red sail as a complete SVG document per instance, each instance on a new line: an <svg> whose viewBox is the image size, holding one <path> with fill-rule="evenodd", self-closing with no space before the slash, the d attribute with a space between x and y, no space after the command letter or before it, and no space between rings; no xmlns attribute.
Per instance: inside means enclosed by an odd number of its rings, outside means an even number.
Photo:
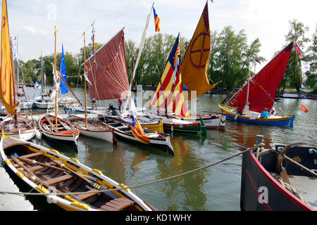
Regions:
<svg viewBox="0 0 317 225"><path fill-rule="evenodd" d="M234 120L237 122L247 122L252 124L262 124L262 125L270 125L270 126L290 126L293 127L293 122L295 115L287 115L281 117L268 117L268 118L256 118L256 117L248 117L244 115L237 115L235 110L230 108L225 108L219 105L220 110L223 113L227 114L228 120Z"/></svg>

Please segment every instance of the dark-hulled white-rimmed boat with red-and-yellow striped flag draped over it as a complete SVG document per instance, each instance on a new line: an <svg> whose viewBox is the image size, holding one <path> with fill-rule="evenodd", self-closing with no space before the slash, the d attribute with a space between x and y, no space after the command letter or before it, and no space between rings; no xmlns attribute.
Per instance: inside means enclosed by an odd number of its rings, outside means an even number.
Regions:
<svg viewBox="0 0 317 225"><path fill-rule="evenodd" d="M138 117L139 118L139 117ZM138 141L135 136L131 132L131 127L129 123L125 123L120 119L106 116L106 115L98 115L98 119L108 124L115 134L116 138L123 139L128 141L129 143L137 143L145 146L151 146L153 148L159 148L164 152L169 153L170 155L174 155L173 146L170 144L170 137L164 134L159 134L157 132L151 131L149 129L144 128L144 133L150 137L149 144L142 143Z"/></svg>

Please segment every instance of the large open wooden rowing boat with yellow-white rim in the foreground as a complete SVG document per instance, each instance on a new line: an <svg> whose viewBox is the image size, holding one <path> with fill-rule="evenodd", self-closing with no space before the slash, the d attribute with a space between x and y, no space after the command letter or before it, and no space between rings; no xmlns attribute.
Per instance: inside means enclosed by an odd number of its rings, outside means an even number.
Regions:
<svg viewBox="0 0 317 225"><path fill-rule="evenodd" d="M39 193L49 193L49 203L69 211L151 211L156 210L130 191L105 191L125 188L105 176L98 169L91 169L75 158L61 155L57 150L35 143L2 136L1 158L6 169L16 174ZM95 191L94 193L92 191ZM60 195L68 193L67 195Z"/></svg>

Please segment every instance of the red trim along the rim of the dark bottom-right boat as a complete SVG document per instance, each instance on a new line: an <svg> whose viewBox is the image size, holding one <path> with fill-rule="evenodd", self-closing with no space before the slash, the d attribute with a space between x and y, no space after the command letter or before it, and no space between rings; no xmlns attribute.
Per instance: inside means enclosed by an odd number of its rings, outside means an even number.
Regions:
<svg viewBox="0 0 317 225"><path fill-rule="evenodd" d="M280 183L278 183L278 181L276 181L273 176L271 176L271 174L269 172L266 171L266 169L261 165L261 163L256 160L256 157L254 154L248 152L248 154L250 155L251 159L254 161L256 167L258 167L258 169L260 170L260 172L266 176L266 179L268 179L268 181L271 182L271 184L273 184L275 186L275 188L278 188L278 190L280 192L282 192L282 194L284 194L287 198L289 198L290 200L292 200L293 203L295 203L296 205L298 205L299 207L301 207L303 210L306 211L315 211L312 207L310 207L309 205L307 205L306 203L304 203L302 200L299 200L297 197L295 197L290 191L288 191L284 186L282 186Z"/></svg>

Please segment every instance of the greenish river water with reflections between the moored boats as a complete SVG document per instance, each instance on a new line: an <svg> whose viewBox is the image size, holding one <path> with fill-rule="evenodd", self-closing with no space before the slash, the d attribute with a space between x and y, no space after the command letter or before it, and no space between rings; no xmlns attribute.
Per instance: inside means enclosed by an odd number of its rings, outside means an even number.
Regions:
<svg viewBox="0 0 317 225"><path fill-rule="evenodd" d="M82 101L84 89L74 88L73 91ZM35 90L27 88L30 98ZM35 96L39 93L36 90ZM143 96L149 98L153 91L143 91ZM218 104L224 95L205 94L198 98L197 111L220 112ZM89 98L87 98L89 99ZM83 102L83 101L82 101ZM103 106L113 101L102 101ZM143 184L157 179L164 179L175 174L197 169L218 160L228 158L238 153L243 147L251 147L256 141L256 135L264 136L266 148L275 144L290 144L307 142L309 146L317 146L316 130L316 100L299 100L282 98L276 102L278 107L287 114L294 114L304 103L309 113L302 112L294 120L294 127L268 127L263 125L245 124L227 120L225 131L208 130L206 139L199 136L173 134L171 143L175 156L161 150L145 146L136 146L123 141L118 146L98 139L80 136L78 153L74 150L49 143L45 140L35 143L54 148L70 158L77 158L88 167L101 170L106 176L127 186ZM60 109L60 112L63 110ZM187 174L158 184L132 188L132 192L147 200L159 210L206 210L206 211L239 211L240 210L240 179L242 155L213 167ZM47 210L48 204L35 205L37 210Z"/></svg>

